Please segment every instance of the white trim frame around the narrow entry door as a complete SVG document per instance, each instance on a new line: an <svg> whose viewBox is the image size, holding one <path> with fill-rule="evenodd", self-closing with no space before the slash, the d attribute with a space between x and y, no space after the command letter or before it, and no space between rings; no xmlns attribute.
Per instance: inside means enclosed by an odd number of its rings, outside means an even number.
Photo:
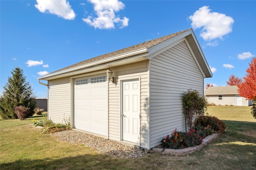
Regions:
<svg viewBox="0 0 256 170"><path fill-rule="evenodd" d="M119 130L120 130L120 135L119 135L119 141L122 141L123 140L123 117L122 117L122 109L123 109L123 98L122 98L122 95L123 95L123 92L122 92L122 90L123 90L123 82L124 81L126 81L126 80L134 80L134 81L136 81L136 80L138 80L138 84L139 84L139 87L140 87L140 95L139 95L139 106L141 107L141 83L140 83L140 81L141 81L141 78L140 78L140 76L135 76L135 77L130 77L130 78L118 78L119 80L118 80L118 82L119 82L119 84L120 84L120 87L119 87L119 101L120 101L120 103L119 103L119 108L120 108L120 110L119 110L119 113L120 113L120 115L119 115L119 122L120 122L120 127L119 127ZM140 108L139 108L139 111L140 111ZM141 122L141 120L140 120L140 117L141 117L141 112L139 112L139 124L141 124L140 122ZM141 146L141 135L140 135L140 133L141 133L141 126L139 125L139 133L138 133L138 136L139 136L139 147Z"/></svg>

